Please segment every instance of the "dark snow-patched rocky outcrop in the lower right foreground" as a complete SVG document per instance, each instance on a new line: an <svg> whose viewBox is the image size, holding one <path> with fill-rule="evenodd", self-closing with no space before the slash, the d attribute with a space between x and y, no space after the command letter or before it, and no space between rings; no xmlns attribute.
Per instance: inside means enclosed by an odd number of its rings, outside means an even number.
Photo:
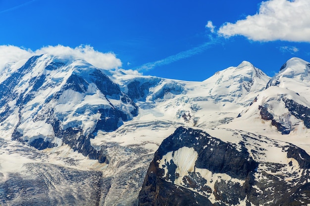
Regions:
<svg viewBox="0 0 310 206"><path fill-rule="evenodd" d="M155 153L139 194L139 206L310 204L310 156L304 150L291 144L281 146L273 140L241 131L231 134L241 135L238 145L223 142L201 130L176 129ZM194 171L182 177L178 172L184 172L180 168L189 163L175 163L173 158L184 147L194 148L198 156ZM279 148L282 155L286 154L286 158L295 163L262 161L265 147ZM172 159L160 165L163 158L171 157L168 153L172 153ZM187 155L191 153L184 154ZM209 175L200 173L202 168L207 169ZM219 177L214 179L216 174ZM223 178L224 175L229 178ZM180 177L182 181L177 181ZM213 188L208 186L211 183Z"/></svg>

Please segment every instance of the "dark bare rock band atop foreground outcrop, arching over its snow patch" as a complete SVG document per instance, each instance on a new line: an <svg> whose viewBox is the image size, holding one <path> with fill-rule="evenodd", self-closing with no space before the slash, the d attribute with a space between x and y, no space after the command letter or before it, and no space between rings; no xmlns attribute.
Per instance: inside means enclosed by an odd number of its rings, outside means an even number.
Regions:
<svg viewBox="0 0 310 206"><path fill-rule="evenodd" d="M211 146L204 149L206 145ZM249 157L245 148L240 153L228 143L210 137L201 130L184 127L177 128L172 135L162 141L155 153L155 159L160 160L167 152L176 151L182 147L193 147L199 153L196 161L197 168L206 168L214 173L226 173L235 178L245 179L258 165Z"/></svg>

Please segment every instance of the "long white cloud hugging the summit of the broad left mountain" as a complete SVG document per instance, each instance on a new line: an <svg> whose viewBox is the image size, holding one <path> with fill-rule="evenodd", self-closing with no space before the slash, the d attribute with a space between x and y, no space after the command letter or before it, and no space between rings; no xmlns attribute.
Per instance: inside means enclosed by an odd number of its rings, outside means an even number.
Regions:
<svg viewBox="0 0 310 206"><path fill-rule="evenodd" d="M64 59L83 59L95 67L109 70L122 66L120 59L116 58L112 52L102 53L94 50L92 46L81 45L71 48L68 46L46 46L35 51L37 55L48 53L58 58Z"/></svg>

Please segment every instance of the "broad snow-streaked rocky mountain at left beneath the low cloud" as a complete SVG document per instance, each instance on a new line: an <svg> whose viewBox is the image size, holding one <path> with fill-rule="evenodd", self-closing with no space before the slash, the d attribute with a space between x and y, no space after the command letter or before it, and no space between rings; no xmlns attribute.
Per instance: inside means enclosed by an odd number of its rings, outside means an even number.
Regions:
<svg viewBox="0 0 310 206"><path fill-rule="evenodd" d="M58 145L57 121L58 129L79 128L88 135L115 130L137 115L136 105L118 85L82 60L34 56L1 82L0 89L1 131L30 144L42 139L47 147Z"/></svg>

